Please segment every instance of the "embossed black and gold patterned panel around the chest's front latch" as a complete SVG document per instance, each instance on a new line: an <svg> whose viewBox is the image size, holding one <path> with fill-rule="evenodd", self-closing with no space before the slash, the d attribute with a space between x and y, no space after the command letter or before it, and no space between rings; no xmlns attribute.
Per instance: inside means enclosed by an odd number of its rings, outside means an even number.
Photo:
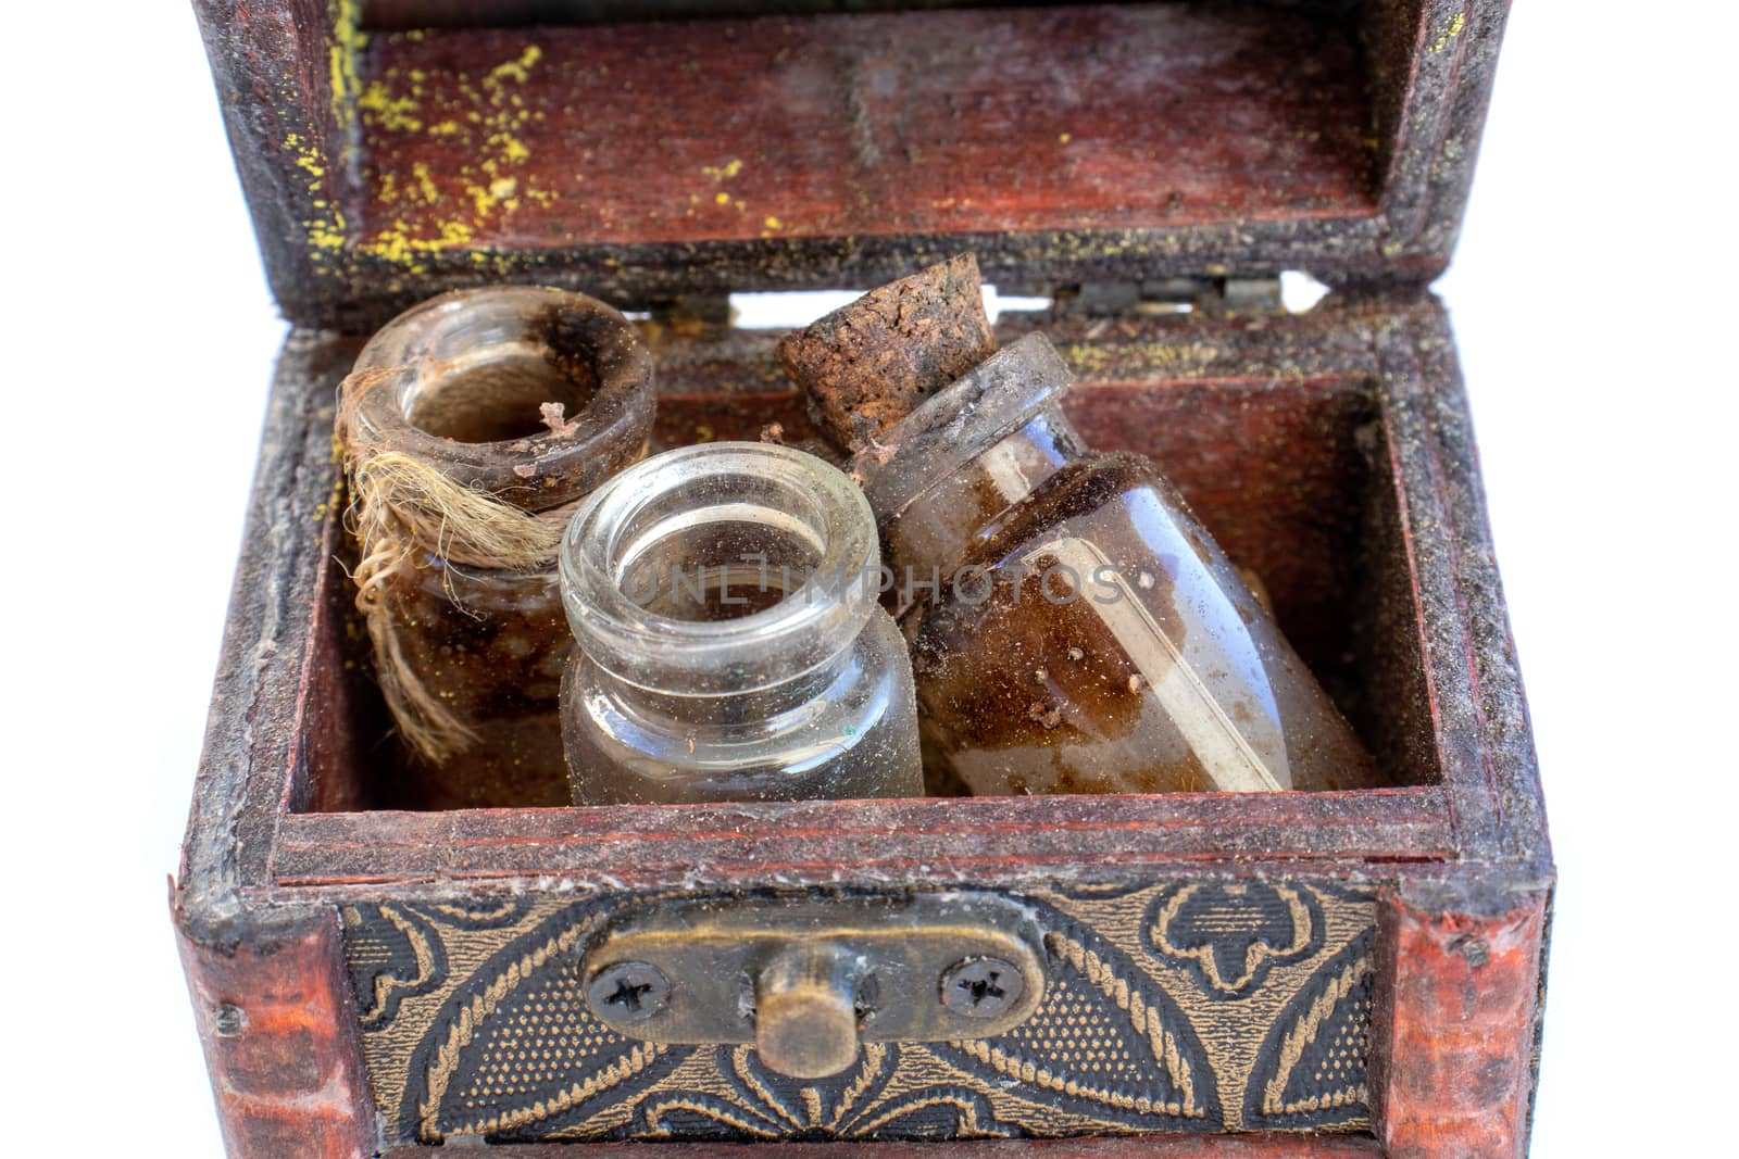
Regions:
<svg viewBox="0 0 1739 1159"><path fill-rule="evenodd" d="M398 1140L812 1140L1369 1129L1369 891L1181 879L1023 895L1036 1013L983 1041L870 1043L831 1079L753 1046L623 1037L579 961L656 897L344 909L376 1102Z"/></svg>

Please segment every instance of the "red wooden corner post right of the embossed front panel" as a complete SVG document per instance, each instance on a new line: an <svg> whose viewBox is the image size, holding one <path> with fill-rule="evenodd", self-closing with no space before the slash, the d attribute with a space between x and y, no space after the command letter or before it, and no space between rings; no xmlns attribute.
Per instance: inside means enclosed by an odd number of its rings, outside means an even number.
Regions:
<svg viewBox="0 0 1739 1159"><path fill-rule="evenodd" d="M1381 898L1370 1091L1389 1159L1527 1152L1546 905L1546 891L1475 912Z"/></svg>

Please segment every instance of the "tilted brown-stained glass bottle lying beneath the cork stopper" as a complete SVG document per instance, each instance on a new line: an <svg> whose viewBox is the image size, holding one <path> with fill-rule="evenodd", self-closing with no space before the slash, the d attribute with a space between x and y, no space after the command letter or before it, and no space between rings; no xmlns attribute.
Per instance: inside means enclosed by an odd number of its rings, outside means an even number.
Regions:
<svg viewBox="0 0 1739 1159"><path fill-rule="evenodd" d="M977 794L1353 789L1376 768L1183 497L1089 452L1028 335L854 462L923 735Z"/></svg>

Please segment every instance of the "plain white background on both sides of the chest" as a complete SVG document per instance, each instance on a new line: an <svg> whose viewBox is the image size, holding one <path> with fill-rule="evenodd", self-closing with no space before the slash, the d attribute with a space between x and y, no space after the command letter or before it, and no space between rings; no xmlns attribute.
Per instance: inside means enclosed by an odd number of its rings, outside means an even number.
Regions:
<svg viewBox="0 0 1739 1159"><path fill-rule="evenodd" d="M165 895L283 327L186 7L7 24L5 1135L216 1156ZM1734 1102L1736 33L1520 0L1440 283L1562 876L1537 1156Z"/></svg>

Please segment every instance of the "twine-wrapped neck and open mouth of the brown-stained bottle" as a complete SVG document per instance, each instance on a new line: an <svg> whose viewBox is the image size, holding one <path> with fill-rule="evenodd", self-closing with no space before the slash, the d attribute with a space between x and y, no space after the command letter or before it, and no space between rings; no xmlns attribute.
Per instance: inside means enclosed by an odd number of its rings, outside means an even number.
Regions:
<svg viewBox="0 0 1739 1159"><path fill-rule="evenodd" d="M442 650L457 641L431 636L452 624L430 622L447 617L428 615L423 589L445 589L482 624L496 613L461 601L468 570L489 586L539 587L576 504L645 454L656 401L652 353L635 323L551 287L452 290L362 348L336 424L346 527L360 546L356 603L386 705L430 763L485 744L490 730L470 712L518 695L530 674L515 667L520 657L482 643L489 631L457 666L464 672L447 671ZM541 426L527 422L539 412Z"/></svg>

